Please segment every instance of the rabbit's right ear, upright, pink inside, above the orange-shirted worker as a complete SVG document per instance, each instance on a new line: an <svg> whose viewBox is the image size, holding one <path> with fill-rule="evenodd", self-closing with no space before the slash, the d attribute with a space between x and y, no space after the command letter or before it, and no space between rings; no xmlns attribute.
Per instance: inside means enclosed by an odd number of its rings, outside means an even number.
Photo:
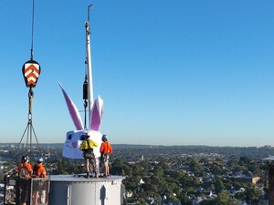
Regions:
<svg viewBox="0 0 274 205"><path fill-rule="evenodd" d="M99 131L101 119L103 116L103 100L100 96L94 101L90 113L90 128Z"/></svg>

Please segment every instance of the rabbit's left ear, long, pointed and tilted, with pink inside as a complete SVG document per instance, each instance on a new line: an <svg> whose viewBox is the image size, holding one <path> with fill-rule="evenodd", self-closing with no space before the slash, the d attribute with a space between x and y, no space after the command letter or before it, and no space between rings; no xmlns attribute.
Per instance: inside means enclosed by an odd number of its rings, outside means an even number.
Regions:
<svg viewBox="0 0 274 205"><path fill-rule="evenodd" d="M65 97L68 111L69 111L70 117L72 118L72 121L75 125L75 128L77 128L77 130L83 129L83 123L82 123L82 119L79 115L78 108L76 108L76 106L74 105L74 103L72 102L70 97L68 97L68 94L65 92L65 90L63 89L63 87L61 86L60 83L59 83L59 87L61 88L63 95Z"/></svg>

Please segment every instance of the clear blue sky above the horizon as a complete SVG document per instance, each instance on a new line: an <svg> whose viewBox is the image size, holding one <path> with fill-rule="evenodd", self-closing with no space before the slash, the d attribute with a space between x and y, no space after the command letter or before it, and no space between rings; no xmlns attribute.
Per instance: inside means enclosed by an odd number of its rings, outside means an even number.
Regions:
<svg viewBox="0 0 274 205"><path fill-rule="evenodd" d="M36 0L40 143L74 129L58 81L83 109L90 4L94 96L112 143L274 146L272 0ZM1 142L27 124L31 11L31 0L0 1Z"/></svg>

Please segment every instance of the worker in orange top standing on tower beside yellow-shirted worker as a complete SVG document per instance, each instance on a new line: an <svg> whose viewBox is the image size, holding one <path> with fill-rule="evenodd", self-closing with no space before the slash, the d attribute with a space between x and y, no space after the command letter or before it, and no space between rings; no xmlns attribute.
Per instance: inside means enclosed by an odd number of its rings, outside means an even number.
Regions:
<svg viewBox="0 0 274 205"><path fill-rule="evenodd" d="M104 176L110 176L109 160L112 154L111 143L108 141L108 137L103 135L101 137L102 143L100 145L100 164L104 163Z"/></svg>

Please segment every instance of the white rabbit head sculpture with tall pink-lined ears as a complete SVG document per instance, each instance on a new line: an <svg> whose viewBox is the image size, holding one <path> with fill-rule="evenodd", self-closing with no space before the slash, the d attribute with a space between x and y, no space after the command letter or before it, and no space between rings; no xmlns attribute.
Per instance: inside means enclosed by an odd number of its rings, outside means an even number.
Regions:
<svg viewBox="0 0 274 205"><path fill-rule="evenodd" d="M103 100L100 96L94 101L93 106L90 111L90 128L84 128L81 117L79 115L79 110L76 108L75 104L68 97L61 84L59 83L63 95L65 97L68 111L72 121L77 130L71 130L67 132L66 141L63 147L63 157L68 159L83 159L82 151L79 150L79 146L82 140L86 137L87 133L90 135L90 139L98 144L98 147L93 148L93 152L96 158L100 157L100 144L102 134L99 131L100 123L103 115Z"/></svg>

